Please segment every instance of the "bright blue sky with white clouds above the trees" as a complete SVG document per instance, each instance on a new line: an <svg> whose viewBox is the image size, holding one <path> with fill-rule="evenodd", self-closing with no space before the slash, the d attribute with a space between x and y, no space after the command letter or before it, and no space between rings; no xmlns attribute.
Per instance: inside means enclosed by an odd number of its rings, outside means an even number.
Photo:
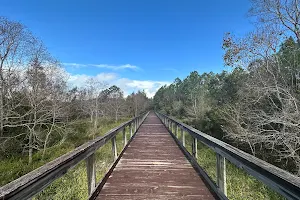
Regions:
<svg viewBox="0 0 300 200"><path fill-rule="evenodd" d="M89 77L125 94L191 71L220 72L225 32L252 29L248 0L0 0L0 15L25 24L64 63L71 85Z"/></svg>

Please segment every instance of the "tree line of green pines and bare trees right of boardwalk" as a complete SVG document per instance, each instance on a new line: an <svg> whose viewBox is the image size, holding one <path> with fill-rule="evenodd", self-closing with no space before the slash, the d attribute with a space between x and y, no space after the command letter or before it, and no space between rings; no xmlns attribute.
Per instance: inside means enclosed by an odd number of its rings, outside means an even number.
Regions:
<svg viewBox="0 0 300 200"><path fill-rule="evenodd" d="M251 2L255 30L223 39L232 70L177 78L154 107L300 175L299 1Z"/></svg>

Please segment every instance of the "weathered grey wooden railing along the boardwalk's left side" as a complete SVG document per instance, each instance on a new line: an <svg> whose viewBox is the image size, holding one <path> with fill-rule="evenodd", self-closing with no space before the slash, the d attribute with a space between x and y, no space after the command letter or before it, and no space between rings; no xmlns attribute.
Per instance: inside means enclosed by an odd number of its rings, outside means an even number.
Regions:
<svg viewBox="0 0 300 200"><path fill-rule="evenodd" d="M110 130L104 136L91 140L74 151L67 153L42 167L4 185L0 188L0 200L6 199L29 199L42 191L54 180L63 176L68 170L75 167L79 162L86 161L88 194L90 195L96 188L96 167L95 152L107 142L112 143L112 153L117 160L116 136L119 132L123 133L124 147L127 144L126 127L129 127L130 136L137 131L139 126L145 120L146 114L135 117L120 126Z"/></svg>

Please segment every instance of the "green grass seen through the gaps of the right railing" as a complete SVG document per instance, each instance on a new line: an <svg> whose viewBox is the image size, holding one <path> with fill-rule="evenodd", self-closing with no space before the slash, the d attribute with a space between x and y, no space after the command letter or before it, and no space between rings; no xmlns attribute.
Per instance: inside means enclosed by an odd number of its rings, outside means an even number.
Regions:
<svg viewBox="0 0 300 200"><path fill-rule="evenodd" d="M192 137L185 133L186 148L192 154ZM182 141L181 135L178 139ZM216 183L216 154L213 150L198 141L198 163ZM262 182L248 175L226 160L227 197L234 200L283 200Z"/></svg>

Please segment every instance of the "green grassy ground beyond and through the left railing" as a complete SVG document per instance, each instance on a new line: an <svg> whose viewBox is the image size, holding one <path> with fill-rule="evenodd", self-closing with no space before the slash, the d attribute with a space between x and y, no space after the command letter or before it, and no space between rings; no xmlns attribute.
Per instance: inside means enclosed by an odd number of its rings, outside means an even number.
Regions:
<svg viewBox="0 0 300 200"><path fill-rule="evenodd" d="M101 123L99 133L97 136L105 134L110 129L118 126L121 122L127 121L124 119L117 123L106 121ZM61 144L49 148L44 158L42 158L42 152L37 152L33 157L33 164L28 165L27 157L12 157L9 159L2 159L0 161L0 185L4 185L18 177L44 165L45 163L54 160L55 158L72 151L77 146L92 139L91 135L87 133L87 123L79 121L75 124L78 132L74 133L67 140ZM80 130L83 129L83 130ZM127 132L127 140L130 138L129 130ZM118 153L122 150L123 135L119 133L117 135L117 149ZM111 151L111 143L105 144L96 152L96 169L97 169L97 182L101 180L105 172L109 169L113 163L113 156ZM44 191L38 194L35 199L87 199L87 175L85 161L79 163L75 168L71 169L63 177L57 179L50 184Z"/></svg>

